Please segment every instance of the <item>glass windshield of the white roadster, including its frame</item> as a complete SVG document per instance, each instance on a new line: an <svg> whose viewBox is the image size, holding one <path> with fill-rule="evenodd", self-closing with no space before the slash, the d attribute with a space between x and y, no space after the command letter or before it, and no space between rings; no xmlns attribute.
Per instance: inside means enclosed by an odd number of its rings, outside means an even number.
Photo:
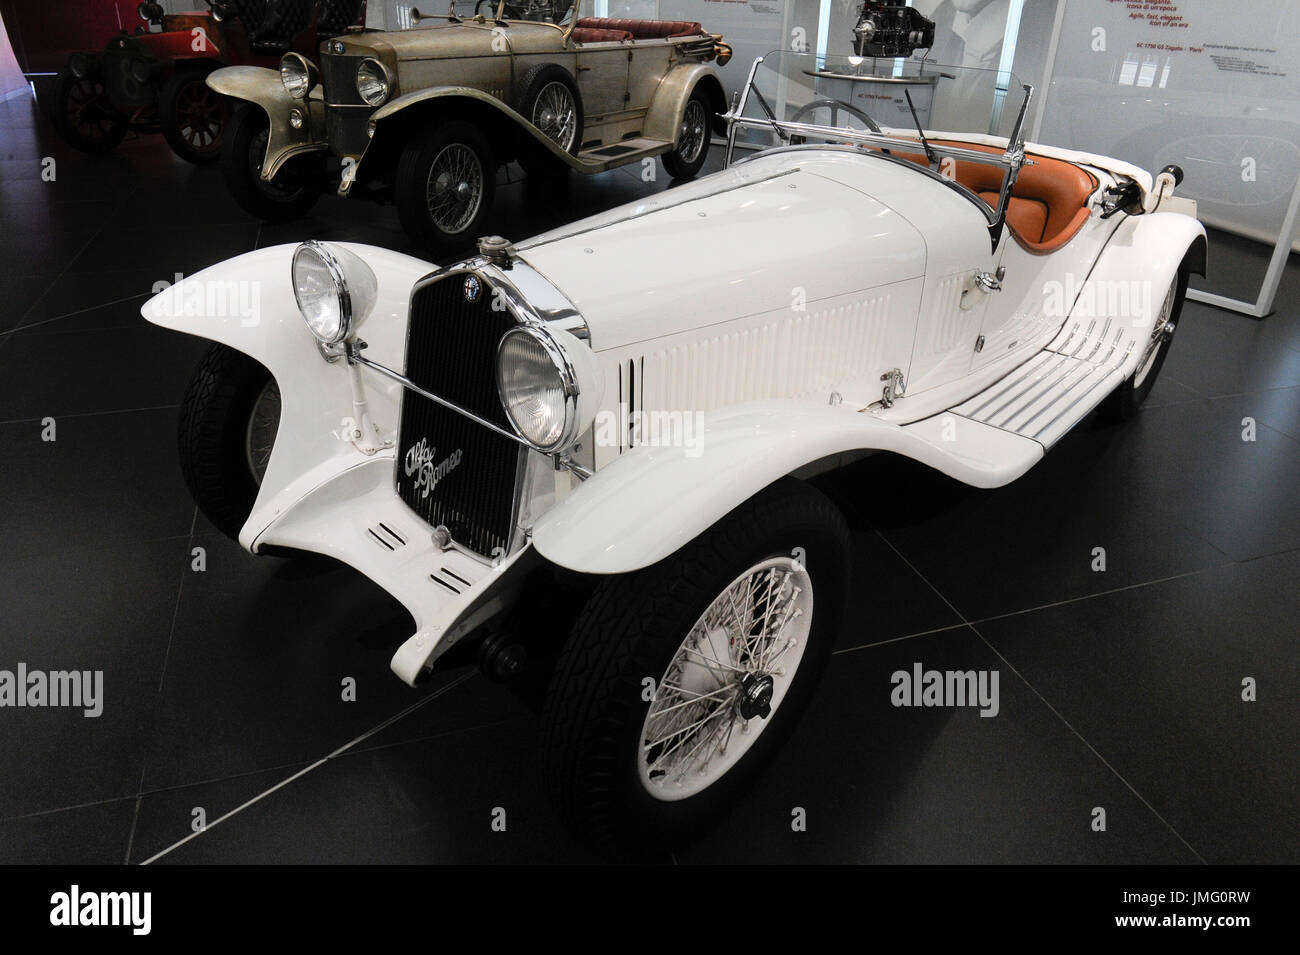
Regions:
<svg viewBox="0 0 1300 955"><path fill-rule="evenodd" d="M1005 70L777 51L754 62L732 114L727 159L738 146L827 143L905 157L979 201L996 229L1024 161L1031 94ZM967 162L984 173L958 175ZM979 200L972 181L998 194L997 207Z"/></svg>

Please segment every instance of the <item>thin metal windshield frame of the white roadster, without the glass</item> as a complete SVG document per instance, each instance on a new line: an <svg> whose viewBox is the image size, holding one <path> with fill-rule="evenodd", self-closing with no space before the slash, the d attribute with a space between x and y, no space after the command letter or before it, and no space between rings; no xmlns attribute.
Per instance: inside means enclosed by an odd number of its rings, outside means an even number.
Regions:
<svg viewBox="0 0 1300 955"><path fill-rule="evenodd" d="M797 56L809 56L800 51L775 51L776 53L794 53ZM1015 125L1011 129L1010 136L1008 136L1006 148L1001 153L983 152L980 149L968 149L965 147L950 146L945 143L936 143L930 139L930 135L924 131L922 138L918 139L913 136L898 136L889 135L887 133L872 133L871 130L857 130L857 129L842 129L838 126L820 126L816 123L805 122L792 122L789 120L777 120L772 113L771 107L763 97L763 94L754 84L754 78L758 75L758 69L762 66L763 61L772 56L760 56L754 60L754 64L749 68L749 78L745 81L744 90L736 95L732 100L732 108L724 114L727 120L727 157L723 168L731 168L733 162L744 162L757 156L766 156L776 152L802 152L809 149L833 149L837 152L852 152L859 156L870 156L874 159L888 160L892 162L906 165L923 175L930 175L936 182L944 186L957 190L957 192L966 199L975 203L976 208L983 213L989 231L989 239L992 247L996 251L998 242L1002 235L1002 225L1006 221L1006 209L1011 199L1011 188L1015 186L1015 181L1020 174L1020 168L1027 160L1024 156L1024 120L1028 113L1030 101L1034 99L1034 87L1028 83L1022 82L1020 88L1024 92L1024 97L1020 101L1020 109L1015 117ZM816 62L814 57L812 62ZM842 79L858 79L858 77L848 74L836 74L828 70L815 70L810 73L815 77L836 77ZM876 81L889 81L888 77L872 77ZM759 104L762 112L766 116L745 116L745 108L750 104L750 97L754 97ZM741 160L734 159L736 152L736 135L741 129L755 129L775 131L777 138L781 140L779 146L770 146L759 149L753 156L746 156ZM972 134L961 133L940 133L940 135L949 136L952 139L962 139L963 136L970 136ZM794 144L790 142L792 136L826 136L836 142L828 143L801 143ZM1000 136L998 136L1000 138ZM868 146L879 147L875 151L863 151L857 147ZM980 162L983 165L1000 166L1004 170L1002 186L998 191L997 207L991 208L979 195L967 188L966 186L957 182L956 178L949 178L939 173L937 169L923 166L910 160L898 159L889 153L880 152L880 149L906 149L909 152L915 152L918 148L924 149L928 156L935 156L940 161L945 157L953 160L962 160L966 162Z"/></svg>

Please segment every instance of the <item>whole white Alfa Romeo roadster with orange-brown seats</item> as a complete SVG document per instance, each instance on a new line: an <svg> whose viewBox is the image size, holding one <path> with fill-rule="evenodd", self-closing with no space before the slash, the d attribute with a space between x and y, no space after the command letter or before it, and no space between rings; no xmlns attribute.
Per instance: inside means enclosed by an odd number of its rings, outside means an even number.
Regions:
<svg viewBox="0 0 1300 955"><path fill-rule="evenodd" d="M394 594L411 685L471 644L541 674L585 834L707 819L840 626L848 530L806 478L889 451L1014 481L1138 409L1204 272L1178 170L1024 144L1030 87L916 70L772 53L722 173L446 268L307 242L151 300L216 343L181 426L199 505Z"/></svg>

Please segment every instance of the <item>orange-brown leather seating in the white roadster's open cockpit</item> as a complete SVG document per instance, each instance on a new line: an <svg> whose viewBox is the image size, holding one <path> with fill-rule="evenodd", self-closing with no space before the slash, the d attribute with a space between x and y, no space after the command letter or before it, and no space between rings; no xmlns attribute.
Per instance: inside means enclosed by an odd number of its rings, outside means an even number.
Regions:
<svg viewBox="0 0 1300 955"><path fill-rule="evenodd" d="M935 146L956 146L1001 155L996 146L933 140ZM928 166L922 153L900 153L900 159ZM1020 169L1006 207L1006 225L1020 246L1035 255L1056 252L1072 239L1092 214L1088 196L1097 190L1093 175L1072 162L1030 155L1034 165ZM957 161L956 179L991 207L997 207L1002 170L983 162Z"/></svg>

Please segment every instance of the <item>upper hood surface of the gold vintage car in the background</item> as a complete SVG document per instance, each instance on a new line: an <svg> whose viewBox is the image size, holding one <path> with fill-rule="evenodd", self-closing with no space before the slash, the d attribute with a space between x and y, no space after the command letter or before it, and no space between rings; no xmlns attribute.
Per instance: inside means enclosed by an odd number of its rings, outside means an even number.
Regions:
<svg viewBox="0 0 1300 955"><path fill-rule="evenodd" d="M559 49L563 32L550 23L510 23L498 26L491 21L477 23L474 21L462 21L459 23L446 19L421 21L420 26L411 30L394 30L389 32L364 32L352 36L339 36L330 42L330 52L337 52L333 45L343 44L347 56L377 56L387 62L402 60L445 60L459 56L490 56L504 55L507 51L500 47L498 35L510 43L514 53L543 52Z"/></svg>

